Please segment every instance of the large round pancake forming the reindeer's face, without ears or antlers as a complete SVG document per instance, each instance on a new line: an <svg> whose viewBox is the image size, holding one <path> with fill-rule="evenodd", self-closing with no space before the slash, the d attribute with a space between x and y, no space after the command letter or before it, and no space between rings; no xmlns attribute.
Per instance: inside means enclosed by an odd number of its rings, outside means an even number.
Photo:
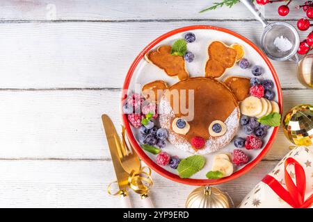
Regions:
<svg viewBox="0 0 313 222"><path fill-rule="evenodd" d="M186 99L173 98L172 92L185 92ZM193 105L189 104L188 92L193 91ZM186 101L188 113L179 108L175 110L175 103ZM185 104L183 105L183 107ZM159 105L159 121L162 128L169 133L169 141L177 148L191 153L211 153L218 151L230 143L239 127L240 111L236 97L223 83L211 78L188 78L172 85L164 94ZM193 112L193 113L191 113ZM191 117L191 118L189 118ZM179 128L177 119L186 121L188 128ZM214 124L223 125L220 134L212 130ZM193 139L200 137L205 140L202 148L193 146Z"/></svg>

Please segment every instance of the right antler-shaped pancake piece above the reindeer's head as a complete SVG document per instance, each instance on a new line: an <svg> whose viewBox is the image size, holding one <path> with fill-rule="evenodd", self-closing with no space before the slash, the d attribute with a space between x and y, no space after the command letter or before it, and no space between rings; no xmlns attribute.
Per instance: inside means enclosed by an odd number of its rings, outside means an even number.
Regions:
<svg viewBox="0 0 313 222"><path fill-rule="evenodd" d="M226 69L234 66L237 51L225 45L223 42L211 42L208 49L209 60L205 65L205 77L219 78Z"/></svg>

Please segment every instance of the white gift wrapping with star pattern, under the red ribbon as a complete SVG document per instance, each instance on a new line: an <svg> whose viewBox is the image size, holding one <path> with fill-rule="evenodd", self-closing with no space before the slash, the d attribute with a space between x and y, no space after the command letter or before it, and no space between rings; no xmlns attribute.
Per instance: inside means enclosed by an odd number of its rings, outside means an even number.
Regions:
<svg viewBox="0 0 313 222"><path fill-rule="evenodd" d="M313 147L298 146L290 151L280 162L275 169L268 173L268 176L277 180L280 185L288 190L285 176L284 176L284 163L289 157L296 160L305 171L305 198L307 200L313 194ZM296 184L295 168L288 166L287 172ZM261 181L255 186L252 191L243 199L239 205L241 208L289 208L291 205L284 201L278 194L273 191L265 182ZM313 206L311 206L312 208Z"/></svg>

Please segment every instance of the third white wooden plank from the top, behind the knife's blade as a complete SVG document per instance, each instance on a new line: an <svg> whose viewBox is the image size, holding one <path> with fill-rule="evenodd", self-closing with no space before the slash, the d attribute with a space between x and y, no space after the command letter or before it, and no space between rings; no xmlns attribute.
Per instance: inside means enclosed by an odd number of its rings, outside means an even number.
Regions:
<svg viewBox="0 0 313 222"><path fill-rule="evenodd" d="M100 121L106 113L120 126L119 91L0 91L0 157L97 159L110 157ZM310 103L313 91L285 90L284 110ZM5 127L4 127L5 126ZM282 130L266 156L280 160L289 142Z"/></svg>

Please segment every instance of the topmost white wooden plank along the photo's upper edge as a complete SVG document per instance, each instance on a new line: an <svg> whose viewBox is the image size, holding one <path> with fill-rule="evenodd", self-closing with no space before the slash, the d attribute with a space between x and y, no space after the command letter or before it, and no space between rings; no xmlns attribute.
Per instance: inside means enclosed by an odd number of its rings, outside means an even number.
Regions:
<svg viewBox="0 0 313 222"><path fill-rule="evenodd" d="M151 19L254 19L252 14L238 3L233 8L223 7L222 10L212 10L199 13L200 10L212 6L213 2L200 0L117 0L117 1L10 1L2 0L2 20L90 20L90 21L124 21L124 20L151 20ZM262 7L267 19L298 19L304 13L294 10L297 1L290 4L287 17L280 17L278 6Z"/></svg>

